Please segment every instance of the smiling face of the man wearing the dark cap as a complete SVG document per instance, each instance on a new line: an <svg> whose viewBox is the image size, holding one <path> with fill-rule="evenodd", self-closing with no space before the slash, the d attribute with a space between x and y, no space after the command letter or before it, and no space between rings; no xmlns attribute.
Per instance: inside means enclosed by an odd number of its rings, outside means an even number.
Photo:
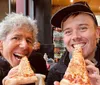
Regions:
<svg viewBox="0 0 100 85"><path fill-rule="evenodd" d="M80 44L85 58L92 57L96 49L98 28L94 26L94 21L87 14L79 14L69 17L63 23L63 40L67 50L72 53L74 45Z"/></svg>

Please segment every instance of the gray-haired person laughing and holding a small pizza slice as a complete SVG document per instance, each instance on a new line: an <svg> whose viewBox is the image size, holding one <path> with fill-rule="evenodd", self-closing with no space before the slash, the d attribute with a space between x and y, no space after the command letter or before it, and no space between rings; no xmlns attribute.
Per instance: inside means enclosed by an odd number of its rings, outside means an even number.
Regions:
<svg viewBox="0 0 100 85"><path fill-rule="evenodd" d="M14 76L12 75L18 72L21 55L30 56L33 44L37 41L37 33L36 21L22 14L8 14L0 23L1 62L5 62L3 63L4 65L0 67L2 72L0 82L2 81L3 85L9 85L9 83L6 83L6 80L13 78ZM6 70L4 66L8 69ZM9 69L11 70L9 71ZM19 80L16 79L16 81L10 82L14 83L13 85L34 83L33 79L30 78L30 81L28 80L29 79L26 78L19 82Z"/></svg>

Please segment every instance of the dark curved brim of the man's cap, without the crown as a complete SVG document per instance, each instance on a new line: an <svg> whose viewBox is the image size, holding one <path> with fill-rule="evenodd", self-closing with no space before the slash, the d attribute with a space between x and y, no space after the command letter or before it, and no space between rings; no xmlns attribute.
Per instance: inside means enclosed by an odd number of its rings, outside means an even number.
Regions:
<svg viewBox="0 0 100 85"><path fill-rule="evenodd" d="M93 13L89 8L87 8L84 5L71 5L67 6L61 10L59 10L57 13L55 13L51 18L51 24L55 27L61 28L61 22L62 20L71 13L76 12L87 12L87 13Z"/></svg>

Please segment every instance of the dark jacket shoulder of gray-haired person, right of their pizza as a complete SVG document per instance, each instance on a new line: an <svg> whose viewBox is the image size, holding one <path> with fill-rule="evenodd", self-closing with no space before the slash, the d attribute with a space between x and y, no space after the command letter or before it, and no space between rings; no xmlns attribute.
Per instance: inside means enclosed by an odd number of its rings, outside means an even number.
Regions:
<svg viewBox="0 0 100 85"><path fill-rule="evenodd" d="M46 61L41 53L33 51L29 57L29 61L31 66L35 69L35 73L48 74Z"/></svg>

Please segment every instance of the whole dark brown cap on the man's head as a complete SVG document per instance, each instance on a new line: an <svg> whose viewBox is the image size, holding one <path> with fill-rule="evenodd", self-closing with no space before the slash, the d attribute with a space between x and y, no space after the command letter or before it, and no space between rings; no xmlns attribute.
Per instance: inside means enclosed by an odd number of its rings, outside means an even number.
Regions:
<svg viewBox="0 0 100 85"><path fill-rule="evenodd" d="M69 17L71 14L77 13L77 12L85 12L92 16L95 24L98 26L97 19L94 15L94 13L91 11L89 5L84 2L76 2L74 4L71 4L67 7L62 8L58 12L56 12L53 17L51 18L51 24L55 27L61 28L61 22L65 17Z"/></svg>

